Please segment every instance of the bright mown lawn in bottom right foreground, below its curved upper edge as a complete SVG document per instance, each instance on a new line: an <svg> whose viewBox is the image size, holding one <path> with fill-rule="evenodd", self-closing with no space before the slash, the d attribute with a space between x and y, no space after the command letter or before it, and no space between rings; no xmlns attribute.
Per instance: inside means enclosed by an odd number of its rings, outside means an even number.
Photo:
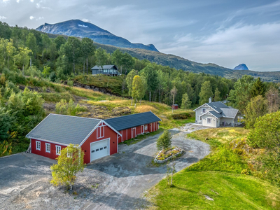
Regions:
<svg viewBox="0 0 280 210"><path fill-rule="evenodd" d="M278 188L226 172L182 171L174 175L172 188L163 179L149 196L158 209L280 209Z"/></svg>

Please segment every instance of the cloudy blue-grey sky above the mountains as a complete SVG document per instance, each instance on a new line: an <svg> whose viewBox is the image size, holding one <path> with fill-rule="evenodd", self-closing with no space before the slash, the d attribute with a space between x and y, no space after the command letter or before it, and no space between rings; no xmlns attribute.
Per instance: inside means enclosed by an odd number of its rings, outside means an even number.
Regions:
<svg viewBox="0 0 280 210"><path fill-rule="evenodd" d="M280 71L280 0L0 0L11 26L71 19L195 62Z"/></svg>

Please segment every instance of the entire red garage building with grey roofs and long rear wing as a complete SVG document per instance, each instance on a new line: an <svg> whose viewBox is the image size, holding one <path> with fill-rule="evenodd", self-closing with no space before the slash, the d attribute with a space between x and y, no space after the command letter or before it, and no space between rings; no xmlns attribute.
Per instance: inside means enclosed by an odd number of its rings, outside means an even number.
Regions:
<svg viewBox="0 0 280 210"><path fill-rule="evenodd" d="M151 112L108 120L50 114L29 134L30 152L55 159L62 148L78 144L85 163L118 153L118 143L158 130L160 118ZM120 129L120 132L118 130Z"/></svg>

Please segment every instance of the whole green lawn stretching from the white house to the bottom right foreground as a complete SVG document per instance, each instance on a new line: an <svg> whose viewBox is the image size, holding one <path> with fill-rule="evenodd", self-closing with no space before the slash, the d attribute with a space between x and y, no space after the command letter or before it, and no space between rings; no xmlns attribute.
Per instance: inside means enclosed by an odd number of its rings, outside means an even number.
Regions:
<svg viewBox="0 0 280 210"><path fill-rule="evenodd" d="M165 179L152 188L146 195L155 204L152 209L280 209L279 188L241 174L248 168L248 157L235 153L230 142L246 134L248 130L241 127L189 134L210 144L211 153L174 174L172 188Z"/></svg>

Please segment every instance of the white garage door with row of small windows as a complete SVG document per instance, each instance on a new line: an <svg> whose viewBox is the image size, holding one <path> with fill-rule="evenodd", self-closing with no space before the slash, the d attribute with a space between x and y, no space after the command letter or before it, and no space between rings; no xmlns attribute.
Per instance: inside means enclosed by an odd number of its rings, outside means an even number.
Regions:
<svg viewBox="0 0 280 210"><path fill-rule="evenodd" d="M92 142L90 144L90 162L109 155L109 139Z"/></svg>

